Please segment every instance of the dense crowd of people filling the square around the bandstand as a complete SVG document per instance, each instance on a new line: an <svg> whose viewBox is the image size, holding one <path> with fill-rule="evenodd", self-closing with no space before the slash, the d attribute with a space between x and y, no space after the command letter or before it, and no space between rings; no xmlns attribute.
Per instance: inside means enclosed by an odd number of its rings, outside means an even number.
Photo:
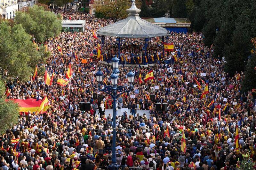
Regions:
<svg viewBox="0 0 256 170"><path fill-rule="evenodd" d="M45 67L50 75L55 73L52 86L45 85L44 75L38 75L35 81L7 84L11 91L8 98L47 96L49 109L44 114L22 113L19 123L1 136L0 169L235 170L243 160L256 161L253 92L241 91L243 72L234 77L225 72L225 59L212 57L213 47L204 46L202 33L171 33L167 41L173 42L174 52L163 55L161 41L151 39L148 56L160 55L159 60L154 58L155 66L146 67L144 62L135 60L136 67L120 67L118 85L129 88L126 74L132 70L136 75L134 90L117 99L118 108L131 109L132 114L113 118L105 114L106 109L113 109L112 99L99 91L110 85L112 67L93 54L100 42L92 31L117 20L74 11L55 12L64 19L85 20L86 29L80 33L62 32L45 42L51 57L37 65ZM143 55L143 43L142 39L123 39L121 55ZM115 39L106 37L102 53L108 54L109 59L117 55ZM69 64L72 79L61 87L57 79L65 78ZM100 86L94 75L98 69L104 73ZM154 79L145 82L149 70L153 70ZM206 84L209 93L201 99ZM132 94L135 98L130 97ZM79 102L90 102L90 110L81 111ZM156 110L159 102L167 103L167 110ZM137 114L137 110L149 111L149 115ZM115 164L111 160L113 121L117 126ZM185 153L181 151L183 131ZM16 138L19 143L12 144Z"/></svg>

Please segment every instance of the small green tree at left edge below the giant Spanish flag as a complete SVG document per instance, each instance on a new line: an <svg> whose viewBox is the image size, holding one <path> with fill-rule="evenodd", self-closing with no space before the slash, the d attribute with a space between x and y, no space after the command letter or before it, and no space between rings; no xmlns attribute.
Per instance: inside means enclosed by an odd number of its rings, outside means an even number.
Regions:
<svg viewBox="0 0 256 170"><path fill-rule="evenodd" d="M5 101L4 98L0 99L0 133L3 134L6 129L18 123L19 118L19 105L12 100Z"/></svg>

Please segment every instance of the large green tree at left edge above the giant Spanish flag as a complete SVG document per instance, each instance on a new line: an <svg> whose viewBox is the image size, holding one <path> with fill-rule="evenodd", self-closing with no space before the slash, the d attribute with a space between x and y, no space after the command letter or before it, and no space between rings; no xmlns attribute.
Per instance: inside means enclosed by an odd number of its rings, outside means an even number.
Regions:
<svg viewBox="0 0 256 170"><path fill-rule="evenodd" d="M36 50L31 38L21 25L11 27L7 21L0 22L0 72L4 79L28 80L35 64L49 57L43 49Z"/></svg>

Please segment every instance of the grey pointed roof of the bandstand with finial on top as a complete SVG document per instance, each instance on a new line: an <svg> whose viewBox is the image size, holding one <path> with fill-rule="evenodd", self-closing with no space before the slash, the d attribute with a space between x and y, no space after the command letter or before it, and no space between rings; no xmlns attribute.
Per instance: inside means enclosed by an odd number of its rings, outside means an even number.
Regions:
<svg viewBox="0 0 256 170"><path fill-rule="evenodd" d="M96 33L99 35L122 37L122 38L151 38L170 35L165 28L152 24L139 16L140 9L132 0L131 8L126 10L128 17L100 28Z"/></svg>

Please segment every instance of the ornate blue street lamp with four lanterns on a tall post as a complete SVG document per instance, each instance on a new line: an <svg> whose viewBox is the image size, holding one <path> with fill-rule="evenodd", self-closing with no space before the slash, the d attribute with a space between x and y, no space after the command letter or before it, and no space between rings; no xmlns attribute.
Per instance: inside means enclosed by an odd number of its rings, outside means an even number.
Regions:
<svg viewBox="0 0 256 170"><path fill-rule="evenodd" d="M122 95L123 93L127 93L127 92L130 92L133 90L132 84L133 84L133 80L134 80L134 76L135 76L135 74L132 71L130 71L127 74L128 82L130 84L130 89L126 89L124 86L117 86L117 79L118 79L118 75L119 75L119 70L117 69L118 62L119 62L119 59L117 57L112 58L113 72L110 75L111 85L105 86L104 89L100 89L100 85L102 84L102 78L103 78L102 71L99 70L95 73L96 80L99 85L99 91L107 93L113 99L113 119L112 119L112 121L113 121L113 126L112 126L113 127L113 138L112 138L112 161L113 161L113 164L116 163L116 111L117 111L116 100L117 100L118 96Z"/></svg>

